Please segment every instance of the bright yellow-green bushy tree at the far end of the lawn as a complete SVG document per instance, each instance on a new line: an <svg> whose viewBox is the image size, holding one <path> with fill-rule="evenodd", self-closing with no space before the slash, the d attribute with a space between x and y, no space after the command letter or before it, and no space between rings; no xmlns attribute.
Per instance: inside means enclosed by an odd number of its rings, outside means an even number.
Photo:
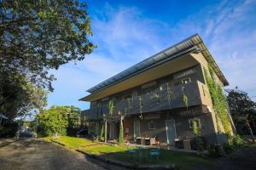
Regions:
<svg viewBox="0 0 256 170"><path fill-rule="evenodd" d="M38 133L42 136L66 135L68 125L68 108L65 106L51 106L49 110L40 111L36 116Z"/></svg>

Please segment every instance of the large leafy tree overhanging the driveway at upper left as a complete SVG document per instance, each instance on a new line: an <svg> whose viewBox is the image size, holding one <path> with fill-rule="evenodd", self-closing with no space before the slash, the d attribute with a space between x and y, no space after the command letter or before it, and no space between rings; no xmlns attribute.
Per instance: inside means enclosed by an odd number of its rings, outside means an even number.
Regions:
<svg viewBox="0 0 256 170"><path fill-rule="evenodd" d="M50 69L82 60L96 48L89 40L85 3L74 0L0 1L0 111L9 118L46 104Z"/></svg>

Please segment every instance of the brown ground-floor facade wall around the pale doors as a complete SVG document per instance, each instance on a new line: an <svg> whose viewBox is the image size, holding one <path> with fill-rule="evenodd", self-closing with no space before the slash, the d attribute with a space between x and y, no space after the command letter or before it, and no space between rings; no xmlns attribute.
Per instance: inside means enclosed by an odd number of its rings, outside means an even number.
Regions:
<svg viewBox="0 0 256 170"><path fill-rule="evenodd" d="M184 139L188 137L189 139L193 139L195 136L193 134L193 129L189 127L189 119L199 118L201 122L201 135L206 137L207 142L216 143L216 137L212 125L212 118L210 114L204 114L201 116L176 116L168 113L150 113L150 116L159 116L154 119L147 119L146 117L143 119L139 118L139 115L133 115L125 117L124 121L124 131L125 128L129 129L129 133L127 134L129 138L126 139L133 140L134 133L134 122L140 122L140 131L142 137L156 137L160 143L166 143L166 120L174 119L177 138ZM155 123L155 129L148 129L148 122L153 121ZM125 134L125 132L124 132Z"/></svg>

